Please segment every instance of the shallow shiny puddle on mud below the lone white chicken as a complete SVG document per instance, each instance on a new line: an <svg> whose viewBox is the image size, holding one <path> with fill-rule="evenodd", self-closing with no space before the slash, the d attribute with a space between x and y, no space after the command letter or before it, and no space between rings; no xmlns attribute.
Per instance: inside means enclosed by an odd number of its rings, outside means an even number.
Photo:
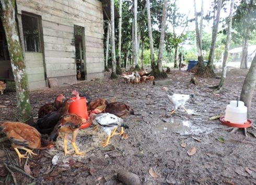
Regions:
<svg viewBox="0 0 256 185"><path fill-rule="evenodd" d="M206 128L191 123L187 120L176 120L170 118L167 122L160 121L156 125L157 133L166 134L167 132L178 133L180 135L199 135L200 133L211 133L212 128Z"/></svg>

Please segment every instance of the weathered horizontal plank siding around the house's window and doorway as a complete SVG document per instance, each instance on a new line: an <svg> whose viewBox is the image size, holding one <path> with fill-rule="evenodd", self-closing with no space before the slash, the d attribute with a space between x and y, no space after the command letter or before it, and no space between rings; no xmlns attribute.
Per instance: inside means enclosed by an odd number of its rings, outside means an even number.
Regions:
<svg viewBox="0 0 256 185"><path fill-rule="evenodd" d="M86 74L104 70L103 11L98 0L16 0L18 14L28 12L41 16L44 67L36 70L33 61L29 79L45 70L46 77L62 83L76 82L74 25L85 28ZM94 64L97 63L97 64ZM45 68L45 69L44 69ZM38 73L37 73L38 72ZM44 71L43 71L44 72ZM32 76L33 74L33 76ZM46 79L45 79L46 80ZM59 81L59 82L60 82ZM46 82L46 81L45 81ZM59 84L62 85L62 84Z"/></svg>

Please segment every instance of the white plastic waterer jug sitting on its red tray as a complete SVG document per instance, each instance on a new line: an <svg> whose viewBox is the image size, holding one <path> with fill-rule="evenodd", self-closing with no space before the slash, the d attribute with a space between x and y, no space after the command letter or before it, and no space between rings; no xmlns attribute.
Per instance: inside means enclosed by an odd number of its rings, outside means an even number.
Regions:
<svg viewBox="0 0 256 185"><path fill-rule="evenodd" d="M235 124L244 124L247 122L247 107L243 101L232 100L227 105L224 117L225 121Z"/></svg>

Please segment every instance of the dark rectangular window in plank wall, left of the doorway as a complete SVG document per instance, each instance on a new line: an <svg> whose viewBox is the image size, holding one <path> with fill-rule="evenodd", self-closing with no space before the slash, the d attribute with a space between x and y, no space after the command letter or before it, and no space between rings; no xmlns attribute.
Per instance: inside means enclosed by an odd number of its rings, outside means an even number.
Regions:
<svg viewBox="0 0 256 185"><path fill-rule="evenodd" d="M39 17L22 14L25 51L41 52Z"/></svg>

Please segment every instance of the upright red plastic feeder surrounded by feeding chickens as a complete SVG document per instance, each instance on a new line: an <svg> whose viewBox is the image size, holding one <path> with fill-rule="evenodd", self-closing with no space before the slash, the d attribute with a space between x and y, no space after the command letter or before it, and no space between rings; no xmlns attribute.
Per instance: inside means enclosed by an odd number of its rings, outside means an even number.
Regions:
<svg viewBox="0 0 256 185"><path fill-rule="evenodd" d="M85 118L88 121L88 115L87 115L87 106L86 106L86 98L80 97L77 99L76 97L71 98L75 100L69 105L68 112L77 114L83 118ZM86 122L82 126L80 126L81 129L88 128L91 125L91 122Z"/></svg>

